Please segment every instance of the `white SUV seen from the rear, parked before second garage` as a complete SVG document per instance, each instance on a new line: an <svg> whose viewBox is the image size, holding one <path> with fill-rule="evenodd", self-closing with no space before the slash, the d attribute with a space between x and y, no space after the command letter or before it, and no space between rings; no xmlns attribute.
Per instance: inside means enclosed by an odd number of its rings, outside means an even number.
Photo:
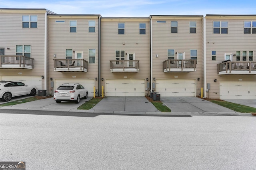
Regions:
<svg viewBox="0 0 256 170"><path fill-rule="evenodd" d="M54 91L53 96L56 103L61 101L75 101L75 103L79 103L81 98L88 98L88 90L79 83L64 83Z"/></svg>

